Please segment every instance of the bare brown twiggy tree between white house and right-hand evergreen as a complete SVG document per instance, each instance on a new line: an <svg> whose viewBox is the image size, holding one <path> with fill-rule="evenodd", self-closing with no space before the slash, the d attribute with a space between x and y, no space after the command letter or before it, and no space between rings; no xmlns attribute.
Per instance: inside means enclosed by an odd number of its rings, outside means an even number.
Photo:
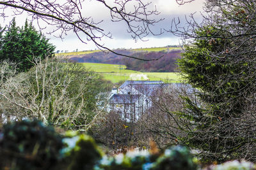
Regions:
<svg viewBox="0 0 256 170"><path fill-rule="evenodd" d="M196 100L193 89L183 83L171 83L151 96L152 108L143 115L140 126L159 148L184 145L182 138L187 137L187 130L192 128L189 121L179 115L184 110L184 99L180 96L185 94Z"/></svg>

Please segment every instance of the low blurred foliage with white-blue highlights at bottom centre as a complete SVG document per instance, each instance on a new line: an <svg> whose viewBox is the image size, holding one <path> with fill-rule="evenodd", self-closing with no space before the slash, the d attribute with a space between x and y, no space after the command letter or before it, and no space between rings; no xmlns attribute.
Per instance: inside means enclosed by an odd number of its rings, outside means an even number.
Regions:
<svg viewBox="0 0 256 170"><path fill-rule="evenodd" d="M194 170L198 168L196 159L193 158L188 148L183 146L166 149L160 157L157 159L154 157L156 155L150 154L146 150L120 153L115 157L104 157L95 166L95 170Z"/></svg>

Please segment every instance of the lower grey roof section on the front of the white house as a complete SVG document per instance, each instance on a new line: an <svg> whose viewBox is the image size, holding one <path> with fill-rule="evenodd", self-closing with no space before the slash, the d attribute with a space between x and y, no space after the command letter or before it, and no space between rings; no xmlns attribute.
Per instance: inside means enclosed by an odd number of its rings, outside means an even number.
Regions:
<svg viewBox="0 0 256 170"><path fill-rule="evenodd" d="M119 104L131 104L138 101L140 95L138 94L113 94L109 99L109 103L119 103Z"/></svg>

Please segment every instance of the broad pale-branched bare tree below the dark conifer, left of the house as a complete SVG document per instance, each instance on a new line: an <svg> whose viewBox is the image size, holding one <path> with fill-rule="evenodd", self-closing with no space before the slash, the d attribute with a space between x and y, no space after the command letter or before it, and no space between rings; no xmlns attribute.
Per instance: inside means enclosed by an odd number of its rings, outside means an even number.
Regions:
<svg viewBox="0 0 256 170"><path fill-rule="evenodd" d="M28 73L15 76L8 76L8 63L1 64L3 117L38 118L66 129L87 130L101 113L94 97L104 90L100 89L104 83L99 75L61 60L38 60L35 64Z"/></svg>

